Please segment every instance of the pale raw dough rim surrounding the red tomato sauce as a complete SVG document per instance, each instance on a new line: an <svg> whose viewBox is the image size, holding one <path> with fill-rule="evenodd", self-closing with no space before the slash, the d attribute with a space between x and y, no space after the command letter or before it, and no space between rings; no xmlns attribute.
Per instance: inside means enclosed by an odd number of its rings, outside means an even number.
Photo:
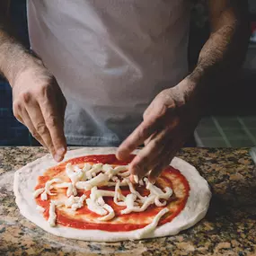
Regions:
<svg viewBox="0 0 256 256"><path fill-rule="evenodd" d="M88 154L115 154L116 147L84 147L68 151L64 161ZM134 153L137 154L138 151ZM50 227L46 219L36 209L37 204L32 196L38 182L38 177L50 167L57 163L51 155L47 154L40 159L22 167L14 174L13 190L16 197L16 204L22 216L31 222L39 225L45 231L58 236L79 239L84 241L116 242L139 239L139 229L128 232L108 232L102 230L84 230L57 225ZM199 222L207 213L211 192L207 181L200 176L195 167L180 158L174 157L171 165L178 169L190 183L190 196L187 204L172 222L156 227L154 232L147 234L145 238L161 237L178 234L181 230L187 229Z"/></svg>

